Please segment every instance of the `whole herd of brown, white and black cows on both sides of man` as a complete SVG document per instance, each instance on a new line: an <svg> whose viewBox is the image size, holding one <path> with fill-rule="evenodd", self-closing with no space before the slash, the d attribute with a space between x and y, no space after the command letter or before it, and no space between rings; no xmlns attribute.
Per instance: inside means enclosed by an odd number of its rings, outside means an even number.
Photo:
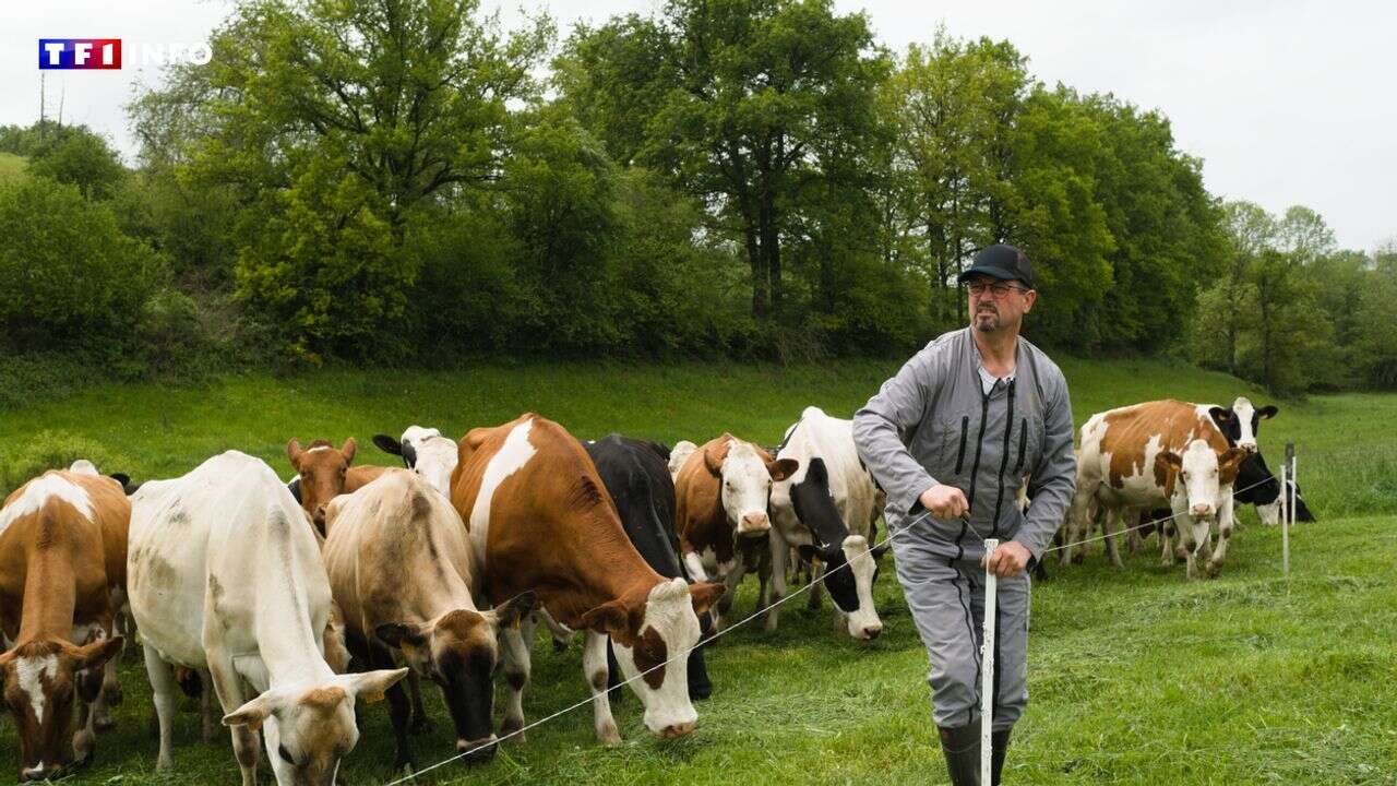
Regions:
<svg viewBox="0 0 1397 786"><path fill-rule="evenodd" d="M1215 573L1234 490L1275 519L1280 487L1256 452L1259 422L1274 414L1238 399L1088 420L1063 562L1098 519L1112 534L1169 508L1165 558L1178 551L1193 576L1197 557ZM21 779L92 757L122 698L119 629L140 632L158 766L172 766L179 691L201 692L205 737L217 699L244 786L258 736L278 783L332 783L359 737L359 698L387 695L394 765L411 765L411 736L426 723L420 678L440 688L458 754L490 757L496 734L524 727L539 621L559 645L583 632L604 744L620 738L608 692L622 676L651 733L694 729L692 698L711 692L697 645L726 622L747 572L760 579L767 629L778 621L770 604L802 569L812 604L828 592L837 628L856 639L883 629L873 604L883 492L851 422L816 407L775 449L729 434L673 449L619 435L580 442L534 414L458 442L412 427L374 445L407 469L352 466L353 439L292 439L289 484L229 450L173 480L131 484L78 460L14 491L0 509L0 678ZM680 656L686 667L671 667ZM507 696L497 733L496 673Z"/></svg>

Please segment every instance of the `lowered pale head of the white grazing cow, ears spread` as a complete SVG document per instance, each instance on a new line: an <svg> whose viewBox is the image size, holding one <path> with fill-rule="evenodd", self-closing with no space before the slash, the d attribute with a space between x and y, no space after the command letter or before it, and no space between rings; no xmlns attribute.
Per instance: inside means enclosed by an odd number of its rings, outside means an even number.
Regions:
<svg viewBox="0 0 1397 786"><path fill-rule="evenodd" d="M225 726L247 726L267 736L267 750L277 751L271 768L277 783L332 786L339 759L359 741L353 702L374 702L408 674L384 669L362 674L337 674L324 685L272 688L224 716Z"/></svg>

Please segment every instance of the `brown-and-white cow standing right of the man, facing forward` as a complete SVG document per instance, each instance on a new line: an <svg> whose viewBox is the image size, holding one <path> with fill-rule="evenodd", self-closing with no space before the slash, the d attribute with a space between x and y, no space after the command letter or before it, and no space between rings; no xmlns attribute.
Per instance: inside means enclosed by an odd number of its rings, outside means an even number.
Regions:
<svg viewBox="0 0 1397 786"><path fill-rule="evenodd" d="M1176 529L1189 530L1180 537L1190 548L1189 578L1197 576L1194 558L1210 551L1206 536L1208 524L1217 522L1218 545L1208 554L1207 573L1218 573L1232 536L1232 485L1246 450L1228 445L1214 424L1215 408L1147 401L1098 413L1081 427L1077 492L1069 512L1074 533L1065 538L1063 565L1071 558L1073 541L1090 531L1094 508L1106 516L1106 554L1120 566L1112 536L1122 515L1168 505L1179 517ZM1166 562L1172 561L1168 555Z"/></svg>

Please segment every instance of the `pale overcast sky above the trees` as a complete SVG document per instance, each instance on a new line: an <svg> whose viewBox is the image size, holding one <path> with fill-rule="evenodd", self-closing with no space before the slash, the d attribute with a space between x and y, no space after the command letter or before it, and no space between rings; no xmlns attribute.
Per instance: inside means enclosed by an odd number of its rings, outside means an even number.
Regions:
<svg viewBox="0 0 1397 786"><path fill-rule="evenodd" d="M500 6L485 0L486 7ZM518 0L506 0L517 18ZM566 32L578 18L648 13L657 0L525 0ZM837 0L865 10L879 39L904 49L936 25L1011 41L1048 84L1113 92L1161 109L1179 147L1201 157L1208 190L1273 213L1308 204L1340 245L1372 250L1397 236L1397 4L1380 1L1084 3L1059 0ZM0 11L0 124L38 116L39 38L120 38L120 71L49 71L49 112L136 145L122 109L142 43L194 43L225 0L7 1Z"/></svg>

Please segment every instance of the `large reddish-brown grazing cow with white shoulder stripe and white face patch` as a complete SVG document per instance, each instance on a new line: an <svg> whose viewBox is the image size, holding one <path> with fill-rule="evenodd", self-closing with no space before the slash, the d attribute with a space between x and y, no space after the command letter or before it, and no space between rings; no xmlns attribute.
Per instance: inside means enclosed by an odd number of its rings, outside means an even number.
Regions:
<svg viewBox="0 0 1397 786"><path fill-rule="evenodd" d="M592 691L597 736L620 741L606 696L606 636L645 708L645 727L661 737L693 730L689 684L666 662L698 642L698 614L722 587L689 586L657 573L636 547L597 467L563 427L532 413L476 428L460 443L451 502L471 531L486 596L536 589L559 622L585 629L583 670ZM510 684L502 734L524 724L534 624L504 634Z"/></svg>

